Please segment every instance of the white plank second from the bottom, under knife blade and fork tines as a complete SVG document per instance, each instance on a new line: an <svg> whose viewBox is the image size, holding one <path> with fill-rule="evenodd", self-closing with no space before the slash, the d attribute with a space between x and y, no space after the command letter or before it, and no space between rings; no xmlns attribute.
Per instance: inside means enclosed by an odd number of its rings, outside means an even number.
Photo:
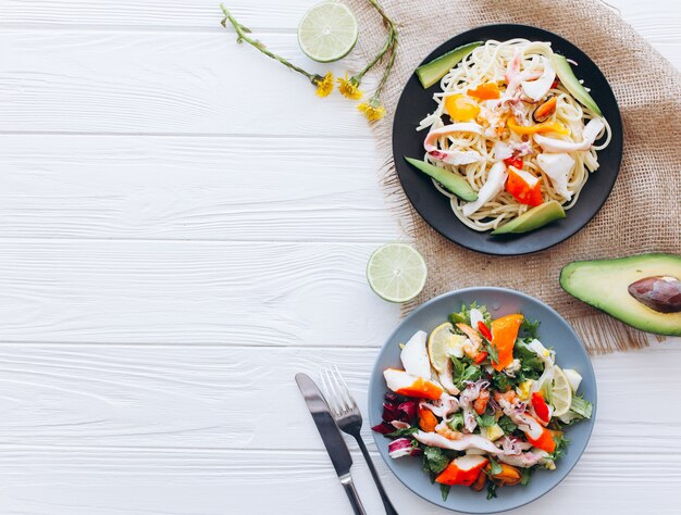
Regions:
<svg viewBox="0 0 681 515"><path fill-rule="evenodd" d="M1 344L2 443L322 450L295 374L317 378L323 367L337 365L366 415L377 351ZM681 341L594 360L600 402L590 454L681 457L681 413L660 413L660 406L674 405L681 389L658 380L673 377L679 361ZM373 449L368 424L364 438Z"/></svg>

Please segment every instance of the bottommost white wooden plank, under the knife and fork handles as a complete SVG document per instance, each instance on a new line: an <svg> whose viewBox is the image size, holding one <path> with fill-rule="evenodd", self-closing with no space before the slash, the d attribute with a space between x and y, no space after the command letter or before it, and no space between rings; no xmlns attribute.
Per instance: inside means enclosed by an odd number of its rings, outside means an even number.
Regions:
<svg viewBox="0 0 681 515"><path fill-rule="evenodd" d="M10 515L350 513L323 451L18 447L0 450L0 510ZM382 513L361 456L354 457L368 513ZM586 454L560 486L518 513L676 515L678 460ZM449 513L407 490L383 463L376 465L400 513Z"/></svg>

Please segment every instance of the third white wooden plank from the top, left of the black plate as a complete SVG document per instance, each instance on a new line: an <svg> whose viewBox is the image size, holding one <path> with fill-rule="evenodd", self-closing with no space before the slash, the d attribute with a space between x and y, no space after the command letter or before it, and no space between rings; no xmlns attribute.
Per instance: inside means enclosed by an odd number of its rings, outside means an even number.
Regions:
<svg viewBox="0 0 681 515"><path fill-rule="evenodd" d="M398 236L371 140L5 136L0 162L4 238Z"/></svg>

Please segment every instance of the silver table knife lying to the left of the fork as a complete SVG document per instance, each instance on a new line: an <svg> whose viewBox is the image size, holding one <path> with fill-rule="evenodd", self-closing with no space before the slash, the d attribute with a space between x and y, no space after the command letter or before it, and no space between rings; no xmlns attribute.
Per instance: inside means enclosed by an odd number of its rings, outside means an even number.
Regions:
<svg viewBox="0 0 681 515"><path fill-rule="evenodd" d="M340 435L340 430L329 411L329 404L326 404L324 395L322 395L317 384L307 374L296 374L296 382L312 415L317 430L322 437L329 457L331 457L331 463L336 469L336 475L350 500L352 510L355 510L357 515L367 515L357 490L355 490L352 476L350 476L352 456L350 456L350 451L348 451L343 435Z"/></svg>

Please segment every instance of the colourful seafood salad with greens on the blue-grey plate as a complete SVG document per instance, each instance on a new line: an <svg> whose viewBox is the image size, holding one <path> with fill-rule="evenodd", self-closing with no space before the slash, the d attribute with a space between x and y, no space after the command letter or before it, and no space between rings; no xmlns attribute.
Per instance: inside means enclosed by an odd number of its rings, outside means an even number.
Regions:
<svg viewBox="0 0 681 515"><path fill-rule="evenodd" d="M498 487L527 485L567 452L564 428L592 415L578 393L582 377L556 364L521 313L492 319L475 303L449 315L430 335L401 346L404 369L384 370L383 420L392 459L417 459L439 483L487 499Z"/></svg>

